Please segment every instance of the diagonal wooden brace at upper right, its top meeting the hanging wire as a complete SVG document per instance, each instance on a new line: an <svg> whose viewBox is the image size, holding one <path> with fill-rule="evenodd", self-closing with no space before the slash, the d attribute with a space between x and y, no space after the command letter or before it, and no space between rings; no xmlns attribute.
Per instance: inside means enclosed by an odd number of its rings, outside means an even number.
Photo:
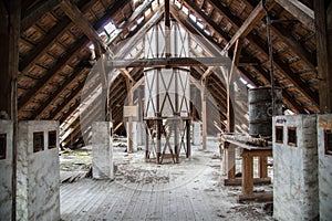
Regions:
<svg viewBox="0 0 332 221"><path fill-rule="evenodd" d="M272 9L273 6L274 2L270 3L267 8ZM264 15L266 15L266 11L262 6L262 2L260 1L258 6L251 11L251 13L242 23L242 25L239 28L239 30L231 38L231 40L224 48L222 50L224 53L227 53L228 50L237 42L238 39L246 38Z"/></svg>

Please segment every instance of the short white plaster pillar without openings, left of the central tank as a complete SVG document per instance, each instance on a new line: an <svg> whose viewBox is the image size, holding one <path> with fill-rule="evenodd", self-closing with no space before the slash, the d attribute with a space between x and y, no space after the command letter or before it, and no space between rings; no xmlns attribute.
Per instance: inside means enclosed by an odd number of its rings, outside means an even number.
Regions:
<svg viewBox="0 0 332 221"><path fill-rule="evenodd" d="M111 122L92 125L92 176L95 179L114 179L112 126Z"/></svg>

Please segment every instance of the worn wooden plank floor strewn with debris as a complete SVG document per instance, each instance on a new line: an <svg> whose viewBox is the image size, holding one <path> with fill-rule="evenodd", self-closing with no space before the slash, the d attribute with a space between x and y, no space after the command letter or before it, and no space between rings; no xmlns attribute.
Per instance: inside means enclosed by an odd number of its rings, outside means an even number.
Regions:
<svg viewBox="0 0 332 221"><path fill-rule="evenodd" d="M260 206L238 204L221 186L220 159L196 151L181 162L146 164L120 154L116 179L84 178L61 186L61 219L68 220L272 220Z"/></svg>

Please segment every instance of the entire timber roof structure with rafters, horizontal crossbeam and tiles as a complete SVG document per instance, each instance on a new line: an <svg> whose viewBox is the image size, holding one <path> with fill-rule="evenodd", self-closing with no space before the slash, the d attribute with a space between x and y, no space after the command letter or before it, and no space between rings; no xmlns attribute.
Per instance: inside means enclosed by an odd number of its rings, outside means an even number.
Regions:
<svg viewBox="0 0 332 221"><path fill-rule="evenodd" d="M62 125L65 146L76 147L90 128L84 128L108 97L110 118L117 133L125 131L123 105L129 87L143 93L143 67L156 65L191 66L191 77L201 82L218 104L208 110L211 119L205 128L211 131L214 122L230 127L230 103L227 82L220 70L212 67L228 56L230 75L238 74L249 86L270 86L269 51L266 11L260 0L28 0L18 10L9 10L1 1L0 28L1 82L0 110L9 118L54 119ZM332 112L331 2L308 0L269 0L266 6L272 19L273 81L282 87L283 105L297 114ZM12 6L10 6L12 7ZM20 20L8 29L7 18ZM164 21L163 21L164 19ZM204 57L201 65L188 60L144 60L142 39L156 23L177 21L190 32L190 52ZM115 27L112 33L105 24ZM4 31L9 30L9 32ZM4 33L7 32L7 33ZM13 35L10 35L13 34ZM10 36L10 38L9 38ZM94 50L91 50L93 44ZM95 69L97 59L115 57L110 65ZM207 59L214 57L214 59ZM118 59L118 60L116 60ZM127 62L129 65L126 65ZM13 64L9 69L9 64ZM10 77L8 77L10 76ZM113 83L107 91L107 81ZM13 82L17 80L17 84ZM136 85L135 83L141 82ZM8 85L11 85L9 87ZM12 91L15 88L17 91ZM136 86L135 86L136 85ZM191 84L191 91L200 91ZM100 88L104 91L97 94ZM106 90L106 91L105 91ZM82 101L94 97L93 101ZM196 93L199 101L200 94ZM14 102L13 102L14 99ZM17 103L17 105L15 105ZM84 107L84 108L83 108ZM17 108L17 109L15 109ZM77 118L82 108L86 122ZM82 129L84 128L84 129ZM71 129L70 136L64 136Z"/></svg>

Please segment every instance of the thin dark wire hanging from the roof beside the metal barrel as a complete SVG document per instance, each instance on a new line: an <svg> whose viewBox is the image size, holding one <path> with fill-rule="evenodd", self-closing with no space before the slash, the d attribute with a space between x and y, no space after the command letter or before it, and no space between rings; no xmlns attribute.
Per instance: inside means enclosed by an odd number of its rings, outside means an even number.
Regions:
<svg viewBox="0 0 332 221"><path fill-rule="evenodd" d="M272 48L272 38L271 38L271 19L269 15L269 10L267 8L268 0L262 0L262 7L266 11L266 20L267 20L267 33L268 33L268 48L269 48L269 63L270 63L270 78L271 78L271 98L272 98L272 116L276 116L276 93L274 93L274 74L273 74L273 48Z"/></svg>

